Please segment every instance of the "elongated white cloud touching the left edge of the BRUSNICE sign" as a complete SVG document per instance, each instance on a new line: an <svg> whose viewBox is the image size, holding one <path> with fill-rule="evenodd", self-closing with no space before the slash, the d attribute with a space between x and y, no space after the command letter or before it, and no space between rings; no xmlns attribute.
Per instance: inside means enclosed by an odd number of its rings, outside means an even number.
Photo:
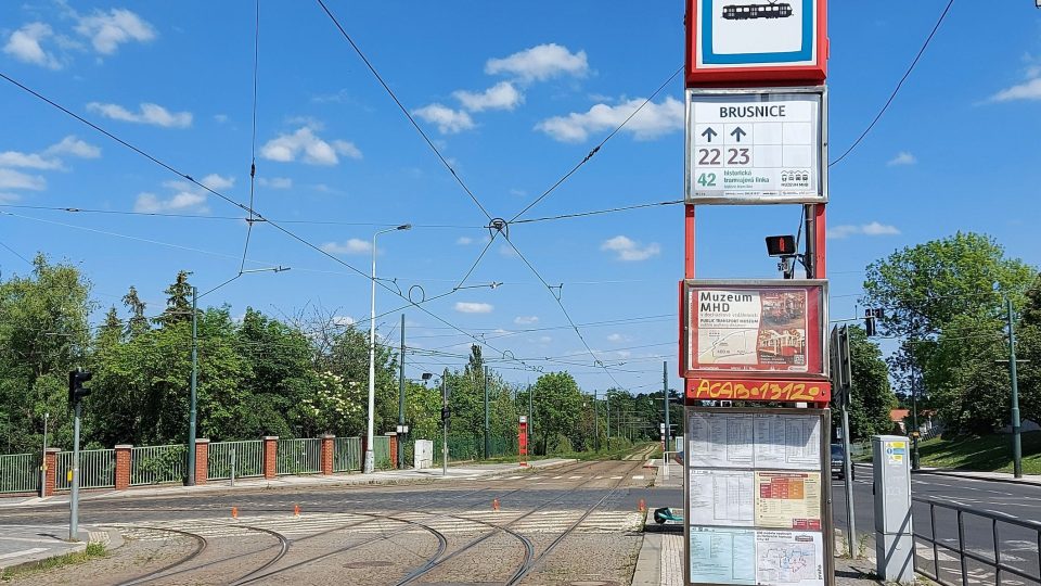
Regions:
<svg viewBox="0 0 1041 586"><path fill-rule="evenodd" d="M617 128L644 101L637 98L618 105L596 104L584 113L547 118L535 128L561 142L582 142L590 132ZM637 140L653 140L682 129L683 103L671 95L661 103L648 102L622 127L622 131L632 133Z"/></svg>

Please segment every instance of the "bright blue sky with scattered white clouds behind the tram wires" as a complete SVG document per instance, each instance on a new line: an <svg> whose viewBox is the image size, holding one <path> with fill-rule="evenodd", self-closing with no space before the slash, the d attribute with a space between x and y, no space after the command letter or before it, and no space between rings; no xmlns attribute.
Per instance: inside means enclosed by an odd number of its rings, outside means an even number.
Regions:
<svg viewBox="0 0 1041 586"><path fill-rule="evenodd" d="M347 2L331 10L491 217L512 218L580 162L683 63L683 4L668 2ZM832 157L888 98L946 2L833 2ZM0 4L0 72L194 177L299 238L427 297L452 291L485 247L488 218L463 191L317 3L260 2L253 140L253 2ZM201 291L239 272L240 208L2 81L0 243L79 265L102 309L131 284L163 306L180 269ZM524 218L682 198L680 77ZM1041 11L1025 0L955 3L873 132L832 169L832 316L852 317L863 268L956 230L995 237L1041 265ZM67 213L20 206L182 214ZM698 209L699 277L775 277L768 233L799 209ZM231 218L231 219L226 219ZM235 219L237 218L237 219ZM676 378L681 206L510 226L466 285L425 307L511 358L567 368L587 390ZM206 296L294 315L364 319L369 281L257 224L247 273ZM0 247L4 276L28 266ZM579 326L570 329L557 304ZM381 290L377 310L403 305ZM408 374L463 361L468 336L410 309ZM100 317L100 314L99 316ZM378 321L397 339L397 315ZM594 365L596 356L611 374ZM436 351L430 356L429 351ZM499 351L507 351L501 359ZM446 355L448 354L448 355ZM552 360L547 360L551 358Z"/></svg>

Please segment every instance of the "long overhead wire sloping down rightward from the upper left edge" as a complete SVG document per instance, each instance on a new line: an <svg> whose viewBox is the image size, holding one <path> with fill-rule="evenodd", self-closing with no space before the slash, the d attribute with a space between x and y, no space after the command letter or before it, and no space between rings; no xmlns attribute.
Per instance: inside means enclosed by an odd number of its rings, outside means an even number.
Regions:
<svg viewBox="0 0 1041 586"><path fill-rule="evenodd" d="M351 264L343 260L342 258L336 257L336 256L333 255L332 253L329 253L329 252L322 250L321 246L318 246L317 244L314 244L314 243L306 240L305 238L298 235L297 233L293 232L293 231L290 230L288 228L285 228L285 227L282 226L281 224L275 222L275 221L273 221L273 220L271 220L271 219L265 218L259 212L256 212L255 209L250 208L249 206L247 206L247 205L245 205L245 204L242 204L242 203L240 203L240 202L236 202L235 200L229 198L228 195L224 195L223 193L221 193L221 192L219 192L219 191L217 191L217 190L215 190L215 189L213 189L213 188L210 188L210 187L208 187L208 186L206 186L206 184L197 181L197 180L196 180L195 178L193 178L191 175L181 173L180 170L178 170L176 167L171 166L170 164L165 163L164 161L155 157L154 155L152 155L152 154L143 151L142 149L140 149L140 148L138 148L138 146L134 146L133 144L127 142L126 140L117 137L116 135L113 135L112 132L105 130L104 128L98 126L97 124L88 120L87 118L83 118L82 116L80 116L80 115L76 114L75 112L68 110L67 107L59 104L57 102L54 102L54 101L51 100L50 98L47 98L46 95L43 95L43 94L39 93L38 91L29 88L28 86L25 86L24 84L15 80L14 78L8 76L7 74L4 74L4 73L2 73L2 72L0 72L0 79L3 79L3 80L5 80L5 81L8 81L8 82L10 82L10 84L12 84L12 85L14 85L14 86L16 86L17 88L22 89L23 91L25 91L25 92L34 95L35 98L37 98L37 99L46 102L46 103L49 104L50 106L52 106L52 107L54 107L54 109L56 109L56 110L59 110L59 111L61 111L61 112L64 112L65 114L67 114L68 116L72 116L73 118L76 118L76 119L79 120L80 123L89 126L90 128L97 130L98 132L101 132L102 135L111 138L112 140L114 140L114 141L116 141L117 143L126 146L127 149L130 149L131 151L138 153L139 155L143 156L144 158L147 158L149 161L155 163L156 165L158 165L158 166L167 169L168 171L177 175L178 177L181 177L181 178L185 179L187 181L190 181L191 183L193 183L193 184L195 184L196 187L205 190L206 192L213 193L213 194L216 195L217 198L219 198L219 199L223 200L224 202L228 202L229 204L231 204L231 205L233 205L233 206L242 209L243 212L246 212L246 213L249 213L249 214L255 215L258 220L262 220L262 221L268 222L268 224L269 224L270 226L272 226L274 229L277 229L277 230L279 230L280 232L282 232L283 234L290 237L292 240L295 240L295 241L299 242L300 244L304 244L305 246L307 246L307 247L313 250L314 252L319 253L320 255L325 256L326 258L333 260L334 263L336 263L336 264L338 264L338 265L342 265L342 266L350 269L352 272L359 275L360 277L363 277L364 279L368 279L368 280L372 280L372 277L371 277L370 275L368 275L368 273L365 273L364 271L358 269L358 268L355 267L354 265L351 265ZM11 215L11 216L15 216L15 214L11 214L11 213L8 213L8 212L4 212L4 214ZM60 224L60 222L52 222L52 224ZM101 232L100 230L92 230L92 231ZM141 239L141 240L143 240L143 239ZM185 249L187 249L187 246L185 246ZM445 318L442 318L442 317L434 314L433 311L430 311L430 310L427 309L426 307L423 307L421 304L415 303L415 302L412 302L412 300L409 300L409 298L408 298L404 294L402 294L400 291L396 291L395 289L391 289L389 285L387 285L386 283L380 281L378 279L376 279L376 283L377 283L380 286L382 286L383 289L385 289L386 291L389 291L390 293L393 293L393 294L401 297L402 300L408 301L409 304L410 304L409 307L415 307L415 308L419 309L420 311L428 315L429 317L432 317L432 318L434 318L435 320L444 323L445 326L448 326L449 328L454 329L454 330L457 330L458 332L460 332L460 333L462 333L462 334L471 337L474 342L477 342L478 344L483 344L483 345L485 345L486 347L488 347L489 349L491 349L491 351L493 351L493 352L498 352L498 353L504 355L503 351L501 351L501 349L499 349L499 348L497 348L497 347L494 347L494 346L491 346L490 344L484 343L481 340L477 339L476 336L474 336L474 335L471 334L470 332L466 332L465 330L463 330L463 329L460 328L459 326L455 326L454 323L451 323L450 321L446 320ZM524 365L523 361L520 361L520 360L517 360L517 361L518 361L519 364ZM524 366L528 366L528 365L524 365Z"/></svg>

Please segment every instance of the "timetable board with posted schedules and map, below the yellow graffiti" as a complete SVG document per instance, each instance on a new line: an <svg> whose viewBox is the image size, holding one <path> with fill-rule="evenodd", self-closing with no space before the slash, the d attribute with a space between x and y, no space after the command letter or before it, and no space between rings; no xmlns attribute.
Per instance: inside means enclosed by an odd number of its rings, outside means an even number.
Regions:
<svg viewBox="0 0 1041 586"><path fill-rule="evenodd" d="M827 409L687 407L687 584L824 586Z"/></svg>

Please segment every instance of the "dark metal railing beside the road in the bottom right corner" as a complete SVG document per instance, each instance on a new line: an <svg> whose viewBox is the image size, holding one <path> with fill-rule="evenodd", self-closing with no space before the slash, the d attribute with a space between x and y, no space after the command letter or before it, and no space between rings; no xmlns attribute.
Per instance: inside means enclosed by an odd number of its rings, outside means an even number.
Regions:
<svg viewBox="0 0 1041 586"><path fill-rule="evenodd" d="M929 535L918 533L917 528L914 532L915 571L946 586L1001 586L1003 579L1004 584L1024 584L1023 581L1041 584L1041 523L930 498L912 497L912 500L929 508ZM940 512L939 525L937 512ZM966 528L966 524L972 526ZM915 523L915 527L920 526L922 523ZM956 535L956 539L952 535ZM966 536L974 543L967 543ZM980 539L990 542L990 551L980 548ZM1010 562L1024 565L1014 566ZM1027 563L1037 565L1029 568ZM1018 579L1010 582L1007 576Z"/></svg>

